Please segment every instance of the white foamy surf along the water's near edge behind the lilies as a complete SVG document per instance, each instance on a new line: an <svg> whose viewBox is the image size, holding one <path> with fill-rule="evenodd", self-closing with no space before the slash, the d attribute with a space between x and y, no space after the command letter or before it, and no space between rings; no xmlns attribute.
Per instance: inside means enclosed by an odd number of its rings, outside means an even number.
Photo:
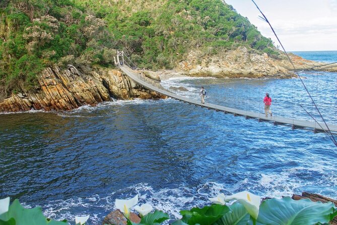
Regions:
<svg viewBox="0 0 337 225"><path fill-rule="evenodd" d="M319 171L320 169L317 170ZM299 182L296 174L310 174L313 171L315 171L315 168L308 169L299 166L282 173L261 174L260 181L255 184L249 183L248 179L243 179L231 186L217 182L207 182L196 187L180 185L176 188L155 190L147 183L140 183L111 192L106 196L95 194L83 198L73 197L66 200L50 201L42 208L46 216L57 220L67 219L68 221L73 221L75 215L90 214L90 224L101 224L103 218L115 210L114 202L116 199L129 199L138 195L139 204L151 204L155 209L168 213L171 216L170 219L178 219L181 217L180 210L203 207L211 204L209 198L219 193L229 195L243 191L247 186L249 186L248 191L261 197L291 196L301 187L310 186L310 183L303 184ZM337 185L337 178L333 176L325 177L322 182L328 181L330 181L329 184L332 190Z"/></svg>

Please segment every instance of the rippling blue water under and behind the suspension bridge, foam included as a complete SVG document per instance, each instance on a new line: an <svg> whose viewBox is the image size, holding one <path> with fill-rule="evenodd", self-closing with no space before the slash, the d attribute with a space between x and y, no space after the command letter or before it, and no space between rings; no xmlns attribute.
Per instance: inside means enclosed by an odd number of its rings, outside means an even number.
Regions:
<svg viewBox="0 0 337 225"><path fill-rule="evenodd" d="M334 124L337 74L303 76L312 93L323 91L315 97ZM190 91L181 94L190 97L204 85L207 101L260 113L257 104L267 90L275 114L307 118L298 108L293 113L294 96L310 105L298 79L235 83L230 89L233 81L238 80L172 79L163 85L184 86ZM290 97L294 87L296 94ZM240 101L245 96L248 103ZM101 224L116 198L136 194L141 203L172 218L181 209L209 204L208 198L220 192L281 197L307 191L337 198L337 151L325 134L257 123L172 99L2 114L0 141L0 198L41 206L55 219L74 221L75 215L90 214L89 224Z"/></svg>

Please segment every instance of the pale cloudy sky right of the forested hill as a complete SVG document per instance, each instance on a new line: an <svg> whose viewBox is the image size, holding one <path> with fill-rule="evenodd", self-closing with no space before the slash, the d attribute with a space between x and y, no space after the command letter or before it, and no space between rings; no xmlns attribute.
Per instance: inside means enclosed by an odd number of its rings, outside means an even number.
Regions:
<svg viewBox="0 0 337 225"><path fill-rule="evenodd" d="M224 0L279 44L251 0ZM337 0L254 0L286 51L337 50Z"/></svg>

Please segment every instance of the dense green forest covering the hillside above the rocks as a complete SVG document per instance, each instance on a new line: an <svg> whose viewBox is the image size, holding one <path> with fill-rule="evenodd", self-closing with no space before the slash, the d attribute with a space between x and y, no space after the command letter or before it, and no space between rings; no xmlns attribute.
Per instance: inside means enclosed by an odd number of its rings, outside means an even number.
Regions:
<svg viewBox="0 0 337 225"><path fill-rule="evenodd" d="M222 0L2 0L0 19L0 101L34 87L46 67L113 67L117 49L154 70L195 48L279 54Z"/></svg>

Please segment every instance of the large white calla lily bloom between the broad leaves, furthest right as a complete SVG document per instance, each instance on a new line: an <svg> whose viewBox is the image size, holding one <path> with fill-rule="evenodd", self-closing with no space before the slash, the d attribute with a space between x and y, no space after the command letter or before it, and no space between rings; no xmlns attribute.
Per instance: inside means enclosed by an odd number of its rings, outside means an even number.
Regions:
<svg viewBox="0 0 337 225"><path fill-rule="evenodd" d="M261 202L261 198L259 196L254 195L248 191L243 191L225 197L226 202L233 199L237 200L240 204L242 204L254 219L257 218Z"/></svg>

